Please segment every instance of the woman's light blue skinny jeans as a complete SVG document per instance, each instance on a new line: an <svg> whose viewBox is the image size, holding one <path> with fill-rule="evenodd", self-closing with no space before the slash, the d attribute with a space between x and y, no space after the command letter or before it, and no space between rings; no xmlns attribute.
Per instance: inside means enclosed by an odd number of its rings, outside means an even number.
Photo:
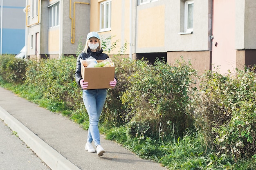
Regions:
<svg viewBox="0 0 256 170"><path fill-rule="evenodd" d="M83 90L83 103L90 119L87 141L94 141L95 147L100 145L99 117L107 97L106 89Z"/></svg>

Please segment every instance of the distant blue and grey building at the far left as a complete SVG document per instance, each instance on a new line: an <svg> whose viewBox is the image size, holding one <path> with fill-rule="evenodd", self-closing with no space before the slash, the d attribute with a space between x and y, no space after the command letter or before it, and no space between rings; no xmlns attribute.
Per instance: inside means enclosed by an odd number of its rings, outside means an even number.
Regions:
<svg viewBox="0 0 256 170"><path fill-rule="evenodd" d="M0 0L0 55L18 54L25 46L26 0Z"/></svg>

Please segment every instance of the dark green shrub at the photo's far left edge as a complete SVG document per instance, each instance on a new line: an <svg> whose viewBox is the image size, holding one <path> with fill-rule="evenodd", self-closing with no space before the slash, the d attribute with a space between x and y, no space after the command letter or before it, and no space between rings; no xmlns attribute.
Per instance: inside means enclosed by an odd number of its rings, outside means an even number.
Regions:
<svg viewBox="0 0 256 170"><path fill-rule="evenodd" d="M0 75L6 82L22 83L25 81L27 60L15 58L14 55L0 56Z"/></svg>

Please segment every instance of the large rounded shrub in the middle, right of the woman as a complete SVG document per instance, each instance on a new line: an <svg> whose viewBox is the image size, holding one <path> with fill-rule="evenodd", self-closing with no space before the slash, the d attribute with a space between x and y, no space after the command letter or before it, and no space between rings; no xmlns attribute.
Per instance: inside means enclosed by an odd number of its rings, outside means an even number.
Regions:
<svg viewBox="0 0 256 170"><path fill-rule="evenodd" d="M160 61L150 65L138 60L133 66L137 69L127 77L129 86L121 96L126 107L126 121L135 121L129 125L130 135L133 136L140 125L149 124L150 130L135 134L142 138L144 135L158 136L159 139L171 134L182 136L193 126L191 116L186 114L186 106L190 103L189 89L194 83L191 77L196 71L184 61L169 66ZM147 133L143 134L144 131Z"/></svg>

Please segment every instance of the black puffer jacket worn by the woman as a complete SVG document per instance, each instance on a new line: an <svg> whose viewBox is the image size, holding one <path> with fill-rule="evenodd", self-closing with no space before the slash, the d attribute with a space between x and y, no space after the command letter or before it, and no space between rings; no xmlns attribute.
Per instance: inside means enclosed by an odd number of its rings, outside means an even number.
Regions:
<svg viewBox="0 0 256 170"><path fill-rule="evenodd" d="M79 54L79 56L77 57L76 60L76 72L75 72L75 77L76 77L76 83L80 86L80 80L83 79L82 75L81 75L81 62L80 62L80 58L82 60L85 60L85 58L88 58L90 56L94 57L96 60L106 60L108 57L108 55L106 55L105 53L102 53L103 50L101 49L100 51L97 52L92 52L90 49L87 50L87 53L81 53ZM117 77L115 76L115 79L117 80Z"/></svg>

